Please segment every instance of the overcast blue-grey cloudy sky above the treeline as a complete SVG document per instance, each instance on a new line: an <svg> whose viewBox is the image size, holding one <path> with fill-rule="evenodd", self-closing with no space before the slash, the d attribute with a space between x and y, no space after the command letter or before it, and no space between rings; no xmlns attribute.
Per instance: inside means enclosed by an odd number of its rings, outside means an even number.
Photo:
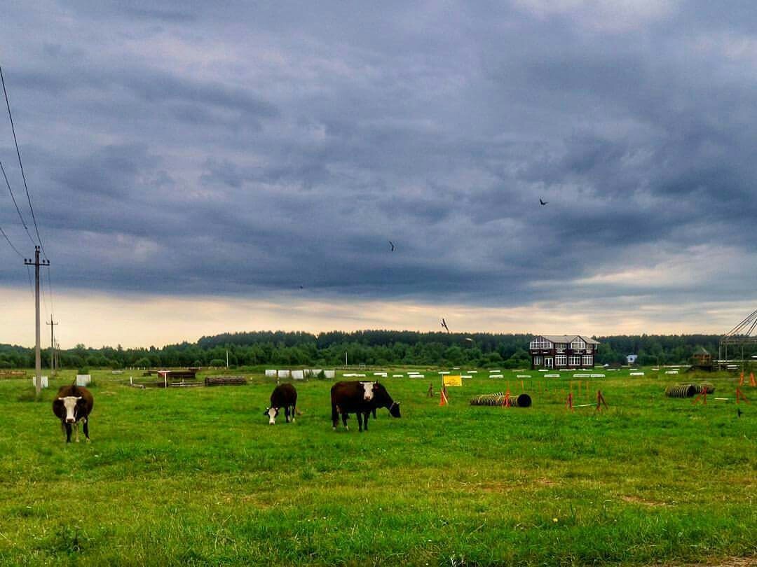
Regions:
<svg viewBox="0 0 757 567"><path fill-rule="evenodd" d="M753 2L10 2L0 64L64 346L755 308ZM2 113L0 160L30 222Z"/></svg>

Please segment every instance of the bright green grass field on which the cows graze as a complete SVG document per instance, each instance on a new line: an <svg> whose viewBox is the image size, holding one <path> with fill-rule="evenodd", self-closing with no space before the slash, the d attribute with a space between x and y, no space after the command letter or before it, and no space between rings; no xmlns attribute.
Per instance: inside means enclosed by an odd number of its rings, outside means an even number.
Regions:
<svg viewBox="0 0 757 567"><path fill-rule="evenodd" d="M370 431L333 432L329 380L298 383L293 424L269 426L273 381L132 389L93 372L92 443L66 445L51 400L0 380L2 565L652 565L757 553L757 389L752 404L665 398L690 375L628 371L573 381L609 411L565 409L569 378L525 380L528 409L471 407L520 392L482 376L402 402ZM391 375L391 371L390 371ZM564 376L568 374L563 373ZM433 378L431 378L433 376ZM704 376L733 398L734 376ZM699 380L702 381L700 377ZM545 390L546 385L546 390Z"/></svg>

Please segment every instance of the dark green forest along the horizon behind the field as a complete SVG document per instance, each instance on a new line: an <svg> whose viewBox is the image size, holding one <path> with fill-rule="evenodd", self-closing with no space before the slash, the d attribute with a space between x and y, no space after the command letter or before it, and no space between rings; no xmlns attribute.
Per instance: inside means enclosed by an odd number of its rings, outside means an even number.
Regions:
<svg viewBox="0 0 757 567"><path fill-rule="evenodd" d="M63 368L225 366L226 351L232 366L311 365L336 367L347 362L366 364L428 364L518 368L530 364L528 342L532 335L494 333L418 333L415 331L364 330L353 333L285 333L256 331L204 336L198 342L182 342L162 348L101 349L76 345L60 352ZM597 363L625 363L626 355L638 355L637 364L685 364L696 347L718 354L718 335L621 335L595 336L600 341ZM42 364L49 367L49 349ZM34 367L34 349L0 345L0 368Z"/></svg>

